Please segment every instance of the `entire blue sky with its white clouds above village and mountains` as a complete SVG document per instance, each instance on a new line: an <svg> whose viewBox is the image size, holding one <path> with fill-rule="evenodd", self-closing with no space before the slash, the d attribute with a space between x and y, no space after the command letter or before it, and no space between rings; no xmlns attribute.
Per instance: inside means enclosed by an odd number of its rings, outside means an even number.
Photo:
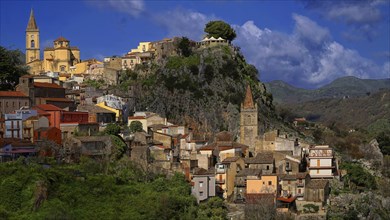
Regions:
<svg viewBox="0 0 390 220"><path fill-rule="evenodd" d="M200 40L208 21L224 20L262 81L316 88L341 76L390 77L389 2L2 0L0 45L24 51L31 8L41 49L63 36L81 59L123 55L165 37Z"/></svg>

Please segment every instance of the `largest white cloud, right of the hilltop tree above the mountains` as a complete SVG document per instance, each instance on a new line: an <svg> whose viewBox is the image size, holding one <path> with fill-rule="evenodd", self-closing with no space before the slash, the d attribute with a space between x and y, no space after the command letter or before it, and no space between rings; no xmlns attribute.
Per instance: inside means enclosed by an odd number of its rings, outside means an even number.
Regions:
<svg viewBox="0 0 390 220"><path fill-rule="evenodd" d="M260 28L253 21L235 25L235 44L265 81L281 79L303 87L318 87L341 76L386 78L383 67L362 57L356 50L332 40L329 31L301 15L293 15L293 33Z"/></svg>

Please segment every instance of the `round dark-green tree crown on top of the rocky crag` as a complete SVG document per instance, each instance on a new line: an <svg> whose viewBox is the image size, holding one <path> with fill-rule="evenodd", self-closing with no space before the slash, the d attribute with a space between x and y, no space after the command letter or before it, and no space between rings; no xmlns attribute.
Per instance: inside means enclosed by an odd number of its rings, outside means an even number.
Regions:
<svg viewBox="0 0 390 220"><path fill-rule="evenodd" d="M207 33L207 37L223 38L228 41L236 38L236 31L224 21L210 21L206 24L204 32Z"/></svg>

